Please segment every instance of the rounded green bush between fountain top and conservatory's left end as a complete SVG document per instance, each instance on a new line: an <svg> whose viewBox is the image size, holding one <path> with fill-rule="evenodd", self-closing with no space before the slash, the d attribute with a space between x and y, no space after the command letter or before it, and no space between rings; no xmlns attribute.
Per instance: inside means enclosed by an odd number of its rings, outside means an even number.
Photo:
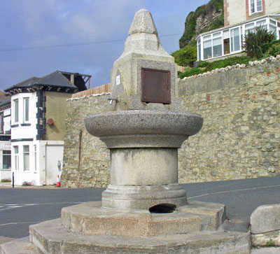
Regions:
<svg viewBox="0 0 280 254"><path fill-rule="evenodd" d="M176 64L180 66L193 66L193 62L197 59L197 47L193 45L186 45L185 48L177 50L172 53Z"/></svg>

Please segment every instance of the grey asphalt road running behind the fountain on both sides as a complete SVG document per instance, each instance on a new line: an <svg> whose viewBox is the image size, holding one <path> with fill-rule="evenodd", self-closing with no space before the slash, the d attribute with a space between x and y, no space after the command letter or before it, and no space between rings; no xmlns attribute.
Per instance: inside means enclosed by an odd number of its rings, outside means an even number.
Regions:
<svg viewBox="0 0 280 254"><path fill-rule="evenodd" d="M188 199L225 204L230 220L247 223L258 206L280 203L279 176L189 183L182 187ZM64 206L100 200L103 190L0 188L0 237L27 237L29 225L59 218Z"/></svg>

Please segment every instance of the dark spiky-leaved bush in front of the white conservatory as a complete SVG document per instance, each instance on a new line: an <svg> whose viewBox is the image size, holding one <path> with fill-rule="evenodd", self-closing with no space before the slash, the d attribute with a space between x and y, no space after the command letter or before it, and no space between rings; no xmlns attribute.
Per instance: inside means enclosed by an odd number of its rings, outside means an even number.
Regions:
<svg viewBox="0 0 280 254"><path fill-rule="evenodd" d="M245 36L244 50L248 57L260 58L267 50L267 43L274 41L275 35L265 27L256 27Z"/></svg>

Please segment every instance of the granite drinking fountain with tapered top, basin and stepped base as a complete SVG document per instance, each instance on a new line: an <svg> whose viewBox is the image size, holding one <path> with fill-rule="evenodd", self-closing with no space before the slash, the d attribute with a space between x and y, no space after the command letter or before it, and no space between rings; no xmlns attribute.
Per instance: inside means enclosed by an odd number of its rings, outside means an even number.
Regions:
<svg viewBox="0 0 280 254"><path fill-rule="evenodd" d="M87 132L110 149L111 183L102 202L68 206L61 219L30 226L25 248L249 253L248 234L221 230L223 204L187 202L178 183L178 148L200 131L203 120L181 112L176 82L174 58L162 48L151 13L139 10L123 55L113 64L110 111L85 118Z"/></svg>

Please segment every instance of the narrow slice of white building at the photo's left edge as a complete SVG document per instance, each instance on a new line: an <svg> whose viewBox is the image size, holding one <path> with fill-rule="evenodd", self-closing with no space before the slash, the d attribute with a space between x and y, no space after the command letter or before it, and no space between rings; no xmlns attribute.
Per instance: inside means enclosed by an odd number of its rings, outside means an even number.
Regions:
<svg viewBox="0 0 280 254"><path fill-rule="evenodd" d="M11 179L10 97L0 92L0 181Z"/></svg>

